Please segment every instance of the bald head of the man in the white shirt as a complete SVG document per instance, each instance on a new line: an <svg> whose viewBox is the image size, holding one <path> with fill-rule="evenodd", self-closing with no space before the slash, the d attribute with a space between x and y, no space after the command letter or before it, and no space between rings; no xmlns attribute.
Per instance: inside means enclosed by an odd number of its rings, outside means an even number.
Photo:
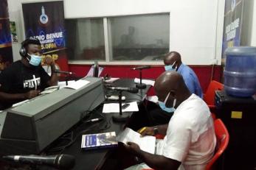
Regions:
<svg viewBox="0 0 256 170"><path fill-rule="evenodd" d="M154 89L156 96L158 96L161 102L164 102L167 94L170 93L166 103L167 106L171 106L174 99L177 99L176 106L178 106L191 94L184 83L183 77L176 71L165 71L162 73L156 79Z"/></svg>

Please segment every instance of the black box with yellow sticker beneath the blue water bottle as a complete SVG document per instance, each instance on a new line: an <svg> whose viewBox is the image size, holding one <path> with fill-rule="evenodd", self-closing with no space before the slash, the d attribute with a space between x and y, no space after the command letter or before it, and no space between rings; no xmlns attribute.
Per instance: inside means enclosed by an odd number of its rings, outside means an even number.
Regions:
<svg viewBox="0 0 256 170"><path fill-rule="evenodd" d="M256 167L256 98L228 96L215 92L217 117L229 131L230 140L224 152L224 169L255 169Z"/></svg>

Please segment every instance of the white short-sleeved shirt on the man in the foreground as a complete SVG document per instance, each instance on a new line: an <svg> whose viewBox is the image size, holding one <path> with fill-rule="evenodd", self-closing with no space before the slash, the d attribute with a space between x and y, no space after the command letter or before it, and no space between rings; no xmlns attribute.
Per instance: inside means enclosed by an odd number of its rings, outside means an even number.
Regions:
<svg viewBox="0 0 256 170"><path fill-rule="evenodd" d="M214 154L216 138L209 107L195 94L177 107L157 154L181 162L179 169L204 169Z"/></svg>

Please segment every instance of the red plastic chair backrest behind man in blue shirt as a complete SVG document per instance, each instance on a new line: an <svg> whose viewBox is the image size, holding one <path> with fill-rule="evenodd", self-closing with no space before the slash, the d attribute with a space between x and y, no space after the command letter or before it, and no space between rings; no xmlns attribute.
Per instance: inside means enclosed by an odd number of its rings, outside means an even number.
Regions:
<svg viewBox="0 0 256 170"><path fill-rule="evenodd" d="M212 80L207 88L207 91L204 93L204 102L206 102L207 105L214 105L215 91L221 91L223 88L224 85L221 82Z"/></svg>

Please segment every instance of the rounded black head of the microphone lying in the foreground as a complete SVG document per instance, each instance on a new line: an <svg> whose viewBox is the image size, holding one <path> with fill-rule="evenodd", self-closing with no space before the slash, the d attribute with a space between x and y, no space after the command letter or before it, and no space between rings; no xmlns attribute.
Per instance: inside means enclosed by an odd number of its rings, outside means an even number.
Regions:
<svg viewBox="0 0 256 170"><path fill-rule="evenodd" d="M72 155L60 155L58 158L60 162L58 163L58 168L69 170L75 166L75 157Z"/></svg>

